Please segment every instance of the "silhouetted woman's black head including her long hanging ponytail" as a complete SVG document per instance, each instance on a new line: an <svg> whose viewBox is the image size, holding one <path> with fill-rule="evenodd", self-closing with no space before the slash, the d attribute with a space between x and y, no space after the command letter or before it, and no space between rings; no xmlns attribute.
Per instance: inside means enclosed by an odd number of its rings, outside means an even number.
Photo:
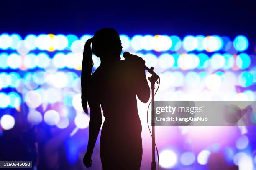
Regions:
<svg viewBox="0 0 256 170"><path fill-rule="evenodd" d="M101 63L115 62L121 59L122 48L119 34L113 28L97 30L93 38L85 42L81 72L81 101L84 112L88 113L87 89L90 84L93 67L92 53L100 58Z"/></svg>

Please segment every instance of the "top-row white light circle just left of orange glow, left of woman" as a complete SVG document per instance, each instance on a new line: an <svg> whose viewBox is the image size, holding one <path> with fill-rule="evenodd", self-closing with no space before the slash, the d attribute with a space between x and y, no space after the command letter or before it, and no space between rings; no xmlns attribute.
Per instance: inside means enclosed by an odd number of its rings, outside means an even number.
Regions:
<svg viewBox="0 0 256 170"><path fill-rule="evenodd" d="M52 46L50 35L41 34L36 38L36 46L39 50L47 50Z"/></svg>

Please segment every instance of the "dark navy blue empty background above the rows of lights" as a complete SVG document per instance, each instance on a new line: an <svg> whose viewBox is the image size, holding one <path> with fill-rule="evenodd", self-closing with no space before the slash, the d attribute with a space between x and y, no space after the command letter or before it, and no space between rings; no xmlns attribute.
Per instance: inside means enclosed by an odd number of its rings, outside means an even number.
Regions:
<svg viewBox="0 0 256 170"><path fill-rule="evenodd" d="M98 1L4 0L0 32L93 34L112 27L120 34L245 35L255 40L254 0Z"/></svg>

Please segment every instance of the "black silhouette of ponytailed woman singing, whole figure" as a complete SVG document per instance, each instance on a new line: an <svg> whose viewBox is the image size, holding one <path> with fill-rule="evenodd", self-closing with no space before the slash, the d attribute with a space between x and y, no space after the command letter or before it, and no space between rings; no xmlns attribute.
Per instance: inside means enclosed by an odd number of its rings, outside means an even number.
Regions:
<svg viewBox="0 0 256 170"><path fill-rule="evenodd" d="M91 49L92 43L92 49ZM146 103L150 89L144 71L145 61L136 56L120 60L119 34L102 28L84 45L81 92L82 106L90 108L89 141L84 165L92 164L91 155L102 124L100 158L103 170L139 170L142 159L141 122L137 100ZM100 58L100 66L92 74L92 53Z"/></svg>

